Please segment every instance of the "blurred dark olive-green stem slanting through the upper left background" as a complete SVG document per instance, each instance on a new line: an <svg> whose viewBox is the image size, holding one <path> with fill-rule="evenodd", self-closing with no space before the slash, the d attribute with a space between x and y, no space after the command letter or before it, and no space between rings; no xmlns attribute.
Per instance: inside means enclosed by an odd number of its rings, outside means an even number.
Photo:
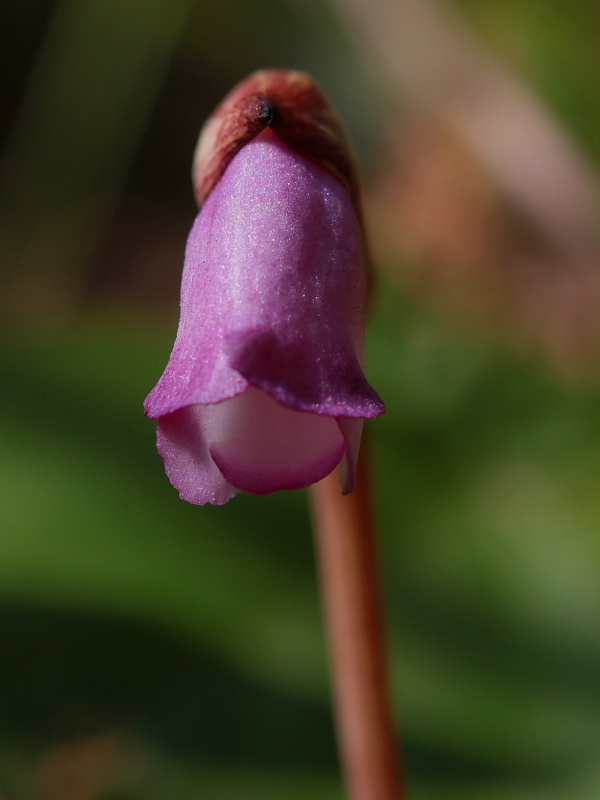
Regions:
<svg viewBox="0 0 600 800"><path fill-rule="evenodd" d="M60 317L80 300L192 5L56 5L0 162L9 313Z"/></svg>

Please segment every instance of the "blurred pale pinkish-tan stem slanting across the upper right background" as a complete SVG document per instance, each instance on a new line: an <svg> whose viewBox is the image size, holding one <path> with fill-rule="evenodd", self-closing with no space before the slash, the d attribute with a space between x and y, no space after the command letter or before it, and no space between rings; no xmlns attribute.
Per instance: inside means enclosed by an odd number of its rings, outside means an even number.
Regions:
<svg viewBox="0 0 600 800"><path fill-rule="evenodd" d="M444 118L557 246L597 254L595 170L534 93L478 41L454 4L334 4L399 104L408 101L413 110Z"/></svg>

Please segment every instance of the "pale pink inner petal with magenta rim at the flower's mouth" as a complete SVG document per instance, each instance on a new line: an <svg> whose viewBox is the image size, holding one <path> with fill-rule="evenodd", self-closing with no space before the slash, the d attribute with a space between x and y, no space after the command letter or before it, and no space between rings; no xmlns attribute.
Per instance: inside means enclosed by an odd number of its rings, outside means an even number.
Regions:
<svg viewBox="0 0 600 800"><path fill-rule="evenodd" d="M210 455L226 480L245 492L302 489L332 472L344 455L335 419L285 408L260 389L203 411L210 414Z"/></svg>

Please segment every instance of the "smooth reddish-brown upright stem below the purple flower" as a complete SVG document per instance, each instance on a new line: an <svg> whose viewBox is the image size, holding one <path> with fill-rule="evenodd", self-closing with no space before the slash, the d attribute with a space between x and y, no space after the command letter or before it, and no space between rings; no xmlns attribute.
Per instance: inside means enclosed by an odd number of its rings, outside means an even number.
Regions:
<svg viewBox="0 0 600 800"><path fill-rule="evenodd" d="M344 497L334 472L312 487L340 760L351 800L403 800L387 681L368 455Z"/></svg>

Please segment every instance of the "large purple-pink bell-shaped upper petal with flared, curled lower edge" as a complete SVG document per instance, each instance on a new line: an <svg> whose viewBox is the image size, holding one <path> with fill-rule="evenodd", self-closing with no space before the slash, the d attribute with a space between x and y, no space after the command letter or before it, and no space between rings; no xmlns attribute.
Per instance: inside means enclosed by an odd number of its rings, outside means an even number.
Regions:
<svg viewBox="0 0 600 800"><path fill-rule="evenodd" d="M190 234L181 321L152 418L262 387L290 408L374 417L362 373L362 236L346 190L265 130L243 147Z"/></svg>

